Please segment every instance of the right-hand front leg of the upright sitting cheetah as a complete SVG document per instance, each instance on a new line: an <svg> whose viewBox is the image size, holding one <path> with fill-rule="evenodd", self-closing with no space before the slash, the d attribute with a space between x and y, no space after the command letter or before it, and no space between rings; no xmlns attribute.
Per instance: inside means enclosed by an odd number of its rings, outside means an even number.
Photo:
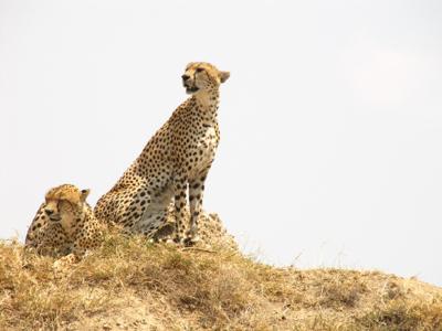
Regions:
<svg viewBox="0 0 442 331"><path fill-rule="evenodd" d="M202 195L204 193L204 182L209 169L202 171L196 179L189 181L189 204L190 204L190 228L189 241L198 242L199 217L202 212Z"/></svg>

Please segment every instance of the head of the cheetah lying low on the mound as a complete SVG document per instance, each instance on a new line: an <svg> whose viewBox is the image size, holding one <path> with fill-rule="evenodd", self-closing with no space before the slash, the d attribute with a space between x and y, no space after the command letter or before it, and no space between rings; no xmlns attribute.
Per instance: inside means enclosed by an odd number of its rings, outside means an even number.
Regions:
<svg viewBox="0 0 442 331"><path fill-rule="evenodd" d="M71 227L81 217L90 190L80 191L76 186L64 184L51 189L45 196L44 213L52 222Z"/></svg>

